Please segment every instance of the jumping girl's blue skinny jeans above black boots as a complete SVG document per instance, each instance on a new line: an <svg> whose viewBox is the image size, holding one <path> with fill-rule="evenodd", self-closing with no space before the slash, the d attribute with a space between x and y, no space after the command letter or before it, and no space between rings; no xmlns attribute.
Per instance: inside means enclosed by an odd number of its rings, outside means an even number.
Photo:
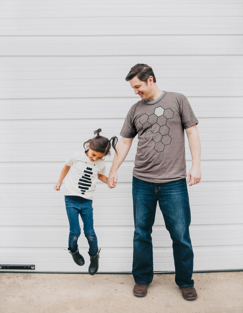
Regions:
<svg viewBox="0 0 243 313"><path fill-rule="evenodd" d="M97 237L94 232L92 200L78 196L65 196L66 210L70 225L68 246L71 252L76 252L78 248L78 237L81 233L78 215L80 214L84 223L84 235L89 243L90 256L95 256L98 252Z"/></svg>

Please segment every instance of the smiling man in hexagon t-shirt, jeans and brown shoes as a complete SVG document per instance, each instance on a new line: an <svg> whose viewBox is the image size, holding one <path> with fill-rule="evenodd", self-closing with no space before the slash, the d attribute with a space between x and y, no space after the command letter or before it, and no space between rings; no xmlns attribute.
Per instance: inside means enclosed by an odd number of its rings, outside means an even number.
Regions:
<svg viewBox="0 0 243 313"><path fill-rule="evenodd" d="M184 299L195 300L197 293L191 279L193 250L189 235L184 129L192 155L187 183L192 186L201 179L198 120L184 95L158 88L154 72L147 64L134 65L126 81L141 100L131 107L124 121L118 156L114 156L108 186L115 187L117 169L138 134L132 190L135 226L132 274L136 283L133 293L135 296L145 296L153 279L151 233L159 202L165 227L173 242L175 282L182 290Z"/></svg>

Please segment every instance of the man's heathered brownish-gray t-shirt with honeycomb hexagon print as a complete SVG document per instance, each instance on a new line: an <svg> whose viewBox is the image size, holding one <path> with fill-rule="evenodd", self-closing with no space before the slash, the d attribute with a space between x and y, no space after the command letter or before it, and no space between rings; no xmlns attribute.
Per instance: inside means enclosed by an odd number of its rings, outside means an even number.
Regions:
<svg viewBox="0 0 243 313"><path fill-rule="evenodd" d="M198 123L187 98L165 91L153 101L140 100L129 110L120 135L138 134L133 176L148 182L186 177L184 129Z"/></svg>

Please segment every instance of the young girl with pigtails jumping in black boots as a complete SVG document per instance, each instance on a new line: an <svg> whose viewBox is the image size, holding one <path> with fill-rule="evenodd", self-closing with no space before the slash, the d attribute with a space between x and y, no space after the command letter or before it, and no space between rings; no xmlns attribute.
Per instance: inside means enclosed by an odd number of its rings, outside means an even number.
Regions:
<svg viewBox="0 0 243 313"><path fill-rule="evenodd" d="M60 190L63 179L67 175L70 167L72 170L65 181L65 204L70 225L68 239L68 251L73 260L78 265L84 265L84 258L78 251L78 237L81 229L78 221L80 214L84 223L84 235L89 243L89 274L94 275L99 268L99 252L97 237L94 232L92 198L96 187L97 179L107 184L105 174L104 156L110 155L111 146L115 150L117 137L110 140L100 136L101 129L94 131L96 135L93 139L84 142L84 150L74 153L63 167L55 190Z"/></svg>

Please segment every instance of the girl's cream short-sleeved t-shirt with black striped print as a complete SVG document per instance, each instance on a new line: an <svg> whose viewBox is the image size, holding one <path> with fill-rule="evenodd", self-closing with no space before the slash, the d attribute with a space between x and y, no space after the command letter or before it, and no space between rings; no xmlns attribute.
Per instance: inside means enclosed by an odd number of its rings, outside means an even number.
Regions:
<svg viewBox="0 0 243 313"><path fill-rule="evenodd" d="M71 166L65 179L65 196L79 196L92 199L98 173L105 174L105 161L91 162L84 151L77 151L65 164Z"/></svg>

